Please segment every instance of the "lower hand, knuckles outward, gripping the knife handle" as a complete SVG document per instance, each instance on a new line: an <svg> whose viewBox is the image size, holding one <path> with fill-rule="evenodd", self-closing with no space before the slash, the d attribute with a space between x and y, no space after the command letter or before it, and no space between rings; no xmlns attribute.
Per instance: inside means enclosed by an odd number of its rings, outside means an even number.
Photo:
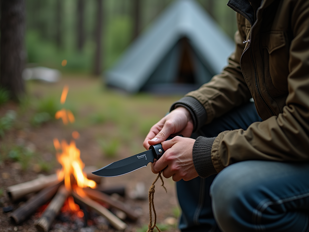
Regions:
<svg viewBox="0 0 309 232"><path fill-rule="evenodd" d="M151 170L157 174L163 170L165 178L173 177L174 181L184 179L191 180L198 176L192 159L192 149L195 140L176 136L171 140L164 141L162 147L165 151L163 156L153 162Z"/></svg>

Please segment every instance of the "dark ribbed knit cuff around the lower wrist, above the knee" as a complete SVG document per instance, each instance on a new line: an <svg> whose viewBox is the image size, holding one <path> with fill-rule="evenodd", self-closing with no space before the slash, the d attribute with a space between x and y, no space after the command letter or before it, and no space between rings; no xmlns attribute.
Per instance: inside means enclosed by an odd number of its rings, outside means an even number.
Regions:
<svg viewBox="0 0 309 232"><path fill-rule="evenodd" d="M194 168L201 178L209 177L210 175L217 174L211 160L211 147L216 137L206 138L198 137L195 140L192 150L192 158Z"/></svg>

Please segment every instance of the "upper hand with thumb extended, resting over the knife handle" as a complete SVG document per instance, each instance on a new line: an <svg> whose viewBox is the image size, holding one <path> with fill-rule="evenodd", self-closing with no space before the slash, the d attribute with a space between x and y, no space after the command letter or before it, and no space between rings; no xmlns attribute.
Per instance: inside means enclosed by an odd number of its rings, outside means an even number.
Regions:
<svg viewBox="0 0 309 232"><path fill-rule="evenodd" d="M151 127L143 145L148 150L150 145L162 143L170 135L177 133L184 137L190 137L192 131L193 120L190 112L179 106Z"/></svg>

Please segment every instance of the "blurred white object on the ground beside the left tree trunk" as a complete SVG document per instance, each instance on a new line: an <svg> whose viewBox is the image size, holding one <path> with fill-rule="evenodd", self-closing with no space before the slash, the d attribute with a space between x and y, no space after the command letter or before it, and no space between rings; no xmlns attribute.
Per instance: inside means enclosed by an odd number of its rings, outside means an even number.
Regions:
<svg viewBox="0 0 309 232"><path fill-rule="evenodd" d="M46 67L25 68L23 70L24 80L40 80L49 83L59 81L61 73L57 69Z"/></svg>

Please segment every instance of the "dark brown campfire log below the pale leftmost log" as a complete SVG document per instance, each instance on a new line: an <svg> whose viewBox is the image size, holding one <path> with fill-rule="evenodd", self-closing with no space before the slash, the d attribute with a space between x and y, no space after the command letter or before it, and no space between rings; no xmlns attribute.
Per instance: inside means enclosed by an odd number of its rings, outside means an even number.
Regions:
<svg viewBox="0 0 309 232"><path fill-rule="evenodd" d="M11 214L11 218L15 221L16 224L23 222L27 217L32 215L32 213L35 213L37 208L52 199L61 184L62 182L40 191L38 194L29 199L25 204L16 209Z"/></svg>

